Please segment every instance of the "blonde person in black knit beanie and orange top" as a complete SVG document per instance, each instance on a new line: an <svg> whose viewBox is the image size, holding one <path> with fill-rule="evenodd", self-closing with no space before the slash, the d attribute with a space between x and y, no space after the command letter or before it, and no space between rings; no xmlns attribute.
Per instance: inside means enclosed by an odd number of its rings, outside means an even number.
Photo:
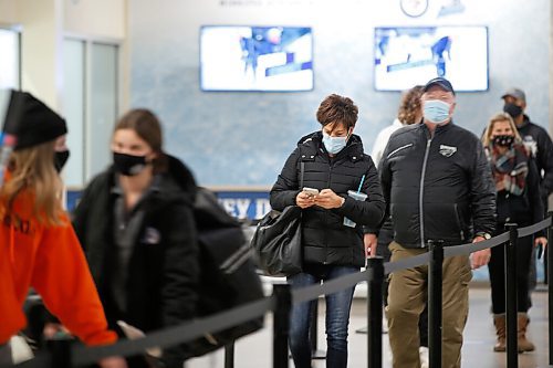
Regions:
<svg viewBox="0 0 553 368"><path fill-rule="evenodd" d="M8 132L17 144L0 189L0 357L4 359L0 362L9 362L7 343L25 325L22 305L29 287L85 344L117 339L107 329L81 244L60 200L54 146L67 132L65 122L32 95L25 93L22 98L21 122ZM117 357L100 365L126 367Z"/></svg>

